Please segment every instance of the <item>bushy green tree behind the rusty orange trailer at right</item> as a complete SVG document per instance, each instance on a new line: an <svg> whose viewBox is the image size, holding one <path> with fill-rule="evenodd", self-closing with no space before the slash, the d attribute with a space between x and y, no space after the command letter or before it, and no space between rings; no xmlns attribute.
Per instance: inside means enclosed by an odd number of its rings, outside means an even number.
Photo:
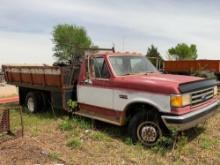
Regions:
<svg viewBox="0 0 220 165"><path fill-rule="evenodd" d="M185 43L180 43L168 49L168 55L175 60L195 60L197 58L197 48L194 44L188 46Z"/></svg>

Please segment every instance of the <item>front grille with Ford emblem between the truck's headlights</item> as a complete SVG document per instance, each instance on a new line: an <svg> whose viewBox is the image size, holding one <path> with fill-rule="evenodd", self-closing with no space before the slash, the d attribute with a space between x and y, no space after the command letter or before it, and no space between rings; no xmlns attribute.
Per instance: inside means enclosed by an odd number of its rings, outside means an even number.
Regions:
<svg viewBox="0 0 220 165"><path fill-rule="evenodd" d="M191 105L197 105L214 97L214 88L206 88L200 91L192 92Z"/></svg>

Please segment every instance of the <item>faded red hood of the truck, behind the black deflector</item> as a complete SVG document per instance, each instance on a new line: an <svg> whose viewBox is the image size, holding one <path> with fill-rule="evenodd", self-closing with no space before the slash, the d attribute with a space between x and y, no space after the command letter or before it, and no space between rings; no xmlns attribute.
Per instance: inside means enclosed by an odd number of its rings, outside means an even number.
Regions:
<svg viewBox="0 0 220 165"><path fill-rule="evenodd" d="M115 87L164 94L179 94L179 85L202 80L200 77L162 73L117 77Z"/></svg>

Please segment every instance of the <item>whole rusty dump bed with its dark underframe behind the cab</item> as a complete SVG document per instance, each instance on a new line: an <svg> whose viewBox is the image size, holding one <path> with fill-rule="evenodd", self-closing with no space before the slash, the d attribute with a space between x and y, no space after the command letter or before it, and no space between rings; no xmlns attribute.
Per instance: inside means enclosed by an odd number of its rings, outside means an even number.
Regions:
<svg viewBox="0 0 220 165"><path fill-rule="evenodd" d="M45 91L45 102L50 101L55 108L68 110L67 100L74 99L74 90L78 72L72 72L71 66L2 66L8 84L19 87L19 96L24 96L29 89ZM46 100L50 98L49 100ZM23 104L25 98L20 99Z"/></svg>

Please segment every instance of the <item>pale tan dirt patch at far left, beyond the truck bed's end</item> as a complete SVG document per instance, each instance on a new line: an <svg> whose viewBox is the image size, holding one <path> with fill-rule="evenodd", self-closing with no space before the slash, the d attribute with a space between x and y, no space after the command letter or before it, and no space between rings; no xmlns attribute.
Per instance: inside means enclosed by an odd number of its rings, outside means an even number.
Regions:
<svg viewBox="0 0 220 165"><path fill-rule="evenodd" d="M15 86L0 84L0 98L17 96L17 95L18 95L18 90Z"/></svg>

